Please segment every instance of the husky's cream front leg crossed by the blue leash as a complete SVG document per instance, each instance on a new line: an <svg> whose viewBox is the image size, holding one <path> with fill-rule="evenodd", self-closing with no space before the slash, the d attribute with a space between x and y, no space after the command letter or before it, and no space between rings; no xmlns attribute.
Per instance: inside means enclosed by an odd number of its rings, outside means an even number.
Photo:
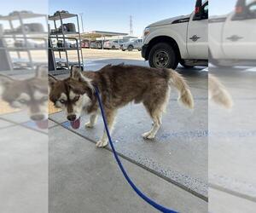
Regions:
<svg viewBox="0 0 256 213"><path fill-rule="evenodd" d="M113 110L105 109L107 123L108 123L108 130L109 134L111 134L111 131L113 130L113 122L115 118L116 112ZM106 130L104 130L102 140L97 141L96 147L106 147L108 145L108 135Z"/></svg>

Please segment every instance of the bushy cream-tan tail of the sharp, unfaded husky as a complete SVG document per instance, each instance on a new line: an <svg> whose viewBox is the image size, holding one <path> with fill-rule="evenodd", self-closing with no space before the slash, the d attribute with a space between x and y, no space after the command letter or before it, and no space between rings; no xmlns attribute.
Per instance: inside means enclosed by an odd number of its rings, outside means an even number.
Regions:
<svg viewBox="0 0 256 213"><path fill-rule="evenodd" d="M170 83L179 91L177 101L181 101L185 107L194 108L193 95L189 90L189 85L181 74L172 69L168 69L170 75Z"/></svg>

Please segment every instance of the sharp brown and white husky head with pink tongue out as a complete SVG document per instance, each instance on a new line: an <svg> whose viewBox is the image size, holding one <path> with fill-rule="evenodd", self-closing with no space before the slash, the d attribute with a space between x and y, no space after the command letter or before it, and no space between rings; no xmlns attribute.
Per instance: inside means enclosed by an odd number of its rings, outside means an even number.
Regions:
<svg viewBox="0 0 256 213"><path fill-rule="evenodd" d="M70 73L64 80L49 75L49 100L62 108L72 127L78 129L82 112L92 103L94 88L90 78L84 77L78 67L73 66Z"/></svg>

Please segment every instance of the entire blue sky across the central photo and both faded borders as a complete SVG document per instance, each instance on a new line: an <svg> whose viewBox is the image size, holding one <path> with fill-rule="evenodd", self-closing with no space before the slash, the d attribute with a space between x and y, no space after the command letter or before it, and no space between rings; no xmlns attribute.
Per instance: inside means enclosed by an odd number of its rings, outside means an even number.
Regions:
<svg viewBox="0 0 256 213"><path fill-rule="evenodd" d="M226 14L234 9L235 4L236 0L212 0L210 14ZM56 10L83 13L85 32L129 32L129 17L132 15L134 35L141 36L148 24L190 14L194 7L195 0L9 0L2 3L0 14L14 10L44 14L54 14Z"/></svg>

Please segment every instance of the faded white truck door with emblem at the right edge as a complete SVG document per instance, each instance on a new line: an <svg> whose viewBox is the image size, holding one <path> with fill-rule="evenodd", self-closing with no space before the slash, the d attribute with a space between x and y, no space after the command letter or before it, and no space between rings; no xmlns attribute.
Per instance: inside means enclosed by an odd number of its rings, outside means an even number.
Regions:
<svg viewBox="0 0 256 213"><path fill-rule="evenodd" d="M226 59L256 59L256 2L243 9L243 13L230 14L224 24L222 40Z"/></svg>

